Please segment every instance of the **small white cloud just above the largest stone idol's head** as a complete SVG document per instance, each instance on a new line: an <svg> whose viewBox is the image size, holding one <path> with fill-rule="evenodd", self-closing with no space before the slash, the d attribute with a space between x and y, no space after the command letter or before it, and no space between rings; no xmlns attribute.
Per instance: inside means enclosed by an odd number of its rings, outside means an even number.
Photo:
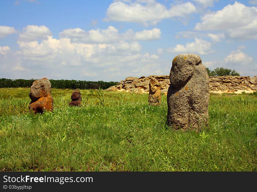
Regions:
<svg viewBox="0 0 257 192"><path fill-rule="evenodd" d="M169 48L172 53L197 53L201 55L213 53L211 43L203 39L195 38L195 42L187 43L185 46L177 44L174 48Z"/></svg>

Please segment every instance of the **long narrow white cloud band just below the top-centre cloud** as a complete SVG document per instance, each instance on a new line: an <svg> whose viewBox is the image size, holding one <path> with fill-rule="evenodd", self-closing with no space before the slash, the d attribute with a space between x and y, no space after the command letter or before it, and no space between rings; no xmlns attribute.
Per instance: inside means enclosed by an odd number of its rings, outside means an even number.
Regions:
<svg viewBox="0 0 257 192"><path fill-rule="evenodd" d="M110 43L118 41L149 41L160 39L161 30L153 28L152 30L143 30L134 32L132 29L127 30L124 33L119 33L113 26L109 26L107 29L96 29L88 32L80 29L65 29L60 32L60 38L69 38L72 42L84 42L84 43Z"/></svg>

